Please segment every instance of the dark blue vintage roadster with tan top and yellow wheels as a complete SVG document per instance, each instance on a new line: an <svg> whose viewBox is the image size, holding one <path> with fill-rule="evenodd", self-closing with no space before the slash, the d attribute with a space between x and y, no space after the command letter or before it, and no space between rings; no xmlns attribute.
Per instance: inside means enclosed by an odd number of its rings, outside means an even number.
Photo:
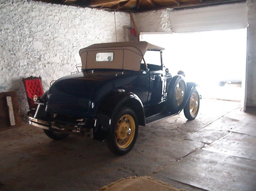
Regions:
<svg viewBox="0 0 256 191"><path fill-rule="evenodd" d="M58 79L41 98L30 125L60 140L69 134L106 140L109 150L132 150L138 126L176 115L184 109L196 118L196 84L169 73L164 48L147 42L93 44L79 51L82 70Z"/></svg>

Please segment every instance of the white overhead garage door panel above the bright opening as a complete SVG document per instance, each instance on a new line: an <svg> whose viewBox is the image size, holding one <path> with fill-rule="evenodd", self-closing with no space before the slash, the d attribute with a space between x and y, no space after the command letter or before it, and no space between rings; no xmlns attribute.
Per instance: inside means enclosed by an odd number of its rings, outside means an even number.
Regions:
<svg viewBox="0 0 256 191"><path fill-rule="evenodd" d="M246 3L176 10L170 14L173 32L199 32L247 27Z"/></svg>

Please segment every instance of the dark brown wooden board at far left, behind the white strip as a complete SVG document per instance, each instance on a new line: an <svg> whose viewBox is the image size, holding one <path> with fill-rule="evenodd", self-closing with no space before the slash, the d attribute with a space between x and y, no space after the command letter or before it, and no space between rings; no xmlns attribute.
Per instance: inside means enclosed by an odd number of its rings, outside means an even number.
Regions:
<svg viewBox="0 0 256 191"><path fill-rule="evenodd" d="M15 118L15 125L10 125L9 109L7 106L6 97L12 98L12 107ZM19 113L18 98L15 91L0 93L0 131L17 127L21 124L21 115Z"/></svg>

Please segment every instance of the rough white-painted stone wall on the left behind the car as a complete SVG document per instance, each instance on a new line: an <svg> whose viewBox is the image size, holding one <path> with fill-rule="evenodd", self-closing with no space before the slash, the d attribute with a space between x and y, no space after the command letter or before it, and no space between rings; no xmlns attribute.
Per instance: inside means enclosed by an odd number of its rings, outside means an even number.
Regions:
<svg viewBox="0 0 256 191"><path fill-rule="evenodd" d="M127 13L116 13L117 40L124 41ZM46 91L53 79L81 65L80 48L116 40L114 12L47 4L0 1L0 86L16 90L21 113L28 104L22 78L41 76Z"/></svg>

